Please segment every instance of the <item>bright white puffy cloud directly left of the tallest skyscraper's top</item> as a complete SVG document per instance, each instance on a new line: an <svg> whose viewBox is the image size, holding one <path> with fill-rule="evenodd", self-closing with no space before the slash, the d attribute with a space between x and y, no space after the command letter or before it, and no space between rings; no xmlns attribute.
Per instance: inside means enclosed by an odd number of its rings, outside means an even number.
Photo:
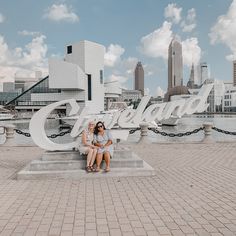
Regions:
<svg viewBox="0 0 236 236"><path fill-rule="evenodd" d="M149 57L167 59L168 47L173 37L172 24L165 21L159 29L141 38L141 51Z"/></svg>

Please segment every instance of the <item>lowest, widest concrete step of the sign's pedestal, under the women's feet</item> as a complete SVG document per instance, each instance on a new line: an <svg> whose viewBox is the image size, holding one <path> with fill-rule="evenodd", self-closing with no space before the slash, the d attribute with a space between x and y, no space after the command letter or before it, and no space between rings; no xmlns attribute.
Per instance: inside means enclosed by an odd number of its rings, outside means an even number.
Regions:
<svg viewBox="0 0 236 236"><path fill-rule="evenodd" d="M63 171L29 171L24 168L17 174L19 180L43 180L43 179L82 179L82 178L109 178L127 176L154 176L155 170L144 162L142 168L111 168L110 172L87 173L85 170L63 170Z"/></svg>

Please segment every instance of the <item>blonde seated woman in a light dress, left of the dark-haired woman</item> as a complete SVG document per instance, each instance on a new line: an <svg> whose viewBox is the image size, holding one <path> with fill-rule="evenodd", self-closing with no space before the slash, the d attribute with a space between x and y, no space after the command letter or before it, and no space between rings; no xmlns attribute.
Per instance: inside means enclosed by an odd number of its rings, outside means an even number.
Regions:
<svg viewBox="0 0 236 236"><path fill-rule="evenodd" d="M86 171L94 171L93 164L97 155L97 147L93 145L94 140L94 122L88 123L88 128L82 132L82 145L79 147L79 151L82 154L87 155Z"/></svg>

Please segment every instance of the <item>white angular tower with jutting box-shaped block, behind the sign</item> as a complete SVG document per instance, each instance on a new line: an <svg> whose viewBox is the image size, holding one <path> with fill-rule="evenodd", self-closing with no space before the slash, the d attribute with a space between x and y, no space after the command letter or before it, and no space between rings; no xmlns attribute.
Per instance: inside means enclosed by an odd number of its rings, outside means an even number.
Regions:
<svg viewBox="0 0 236 236"><path fill-rule="evenodd" d="M91 113L103 111L104 53L103 45L90 41L68 45L64 61L49 59L49 87L61 89L60 100L74 98Z"/></svg>

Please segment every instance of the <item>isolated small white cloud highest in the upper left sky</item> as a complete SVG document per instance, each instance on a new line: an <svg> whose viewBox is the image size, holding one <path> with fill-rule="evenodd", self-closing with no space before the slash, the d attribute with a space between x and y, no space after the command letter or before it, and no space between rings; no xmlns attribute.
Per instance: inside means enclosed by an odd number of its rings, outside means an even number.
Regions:
<svg viewBox="0 0 236 236"><path fill-rule="evenodd" d="M53 4L45 11L44 18L52 21L67 21L71 23L79 21L79 17L73 8L68 7L66 4Z"/></svg>

